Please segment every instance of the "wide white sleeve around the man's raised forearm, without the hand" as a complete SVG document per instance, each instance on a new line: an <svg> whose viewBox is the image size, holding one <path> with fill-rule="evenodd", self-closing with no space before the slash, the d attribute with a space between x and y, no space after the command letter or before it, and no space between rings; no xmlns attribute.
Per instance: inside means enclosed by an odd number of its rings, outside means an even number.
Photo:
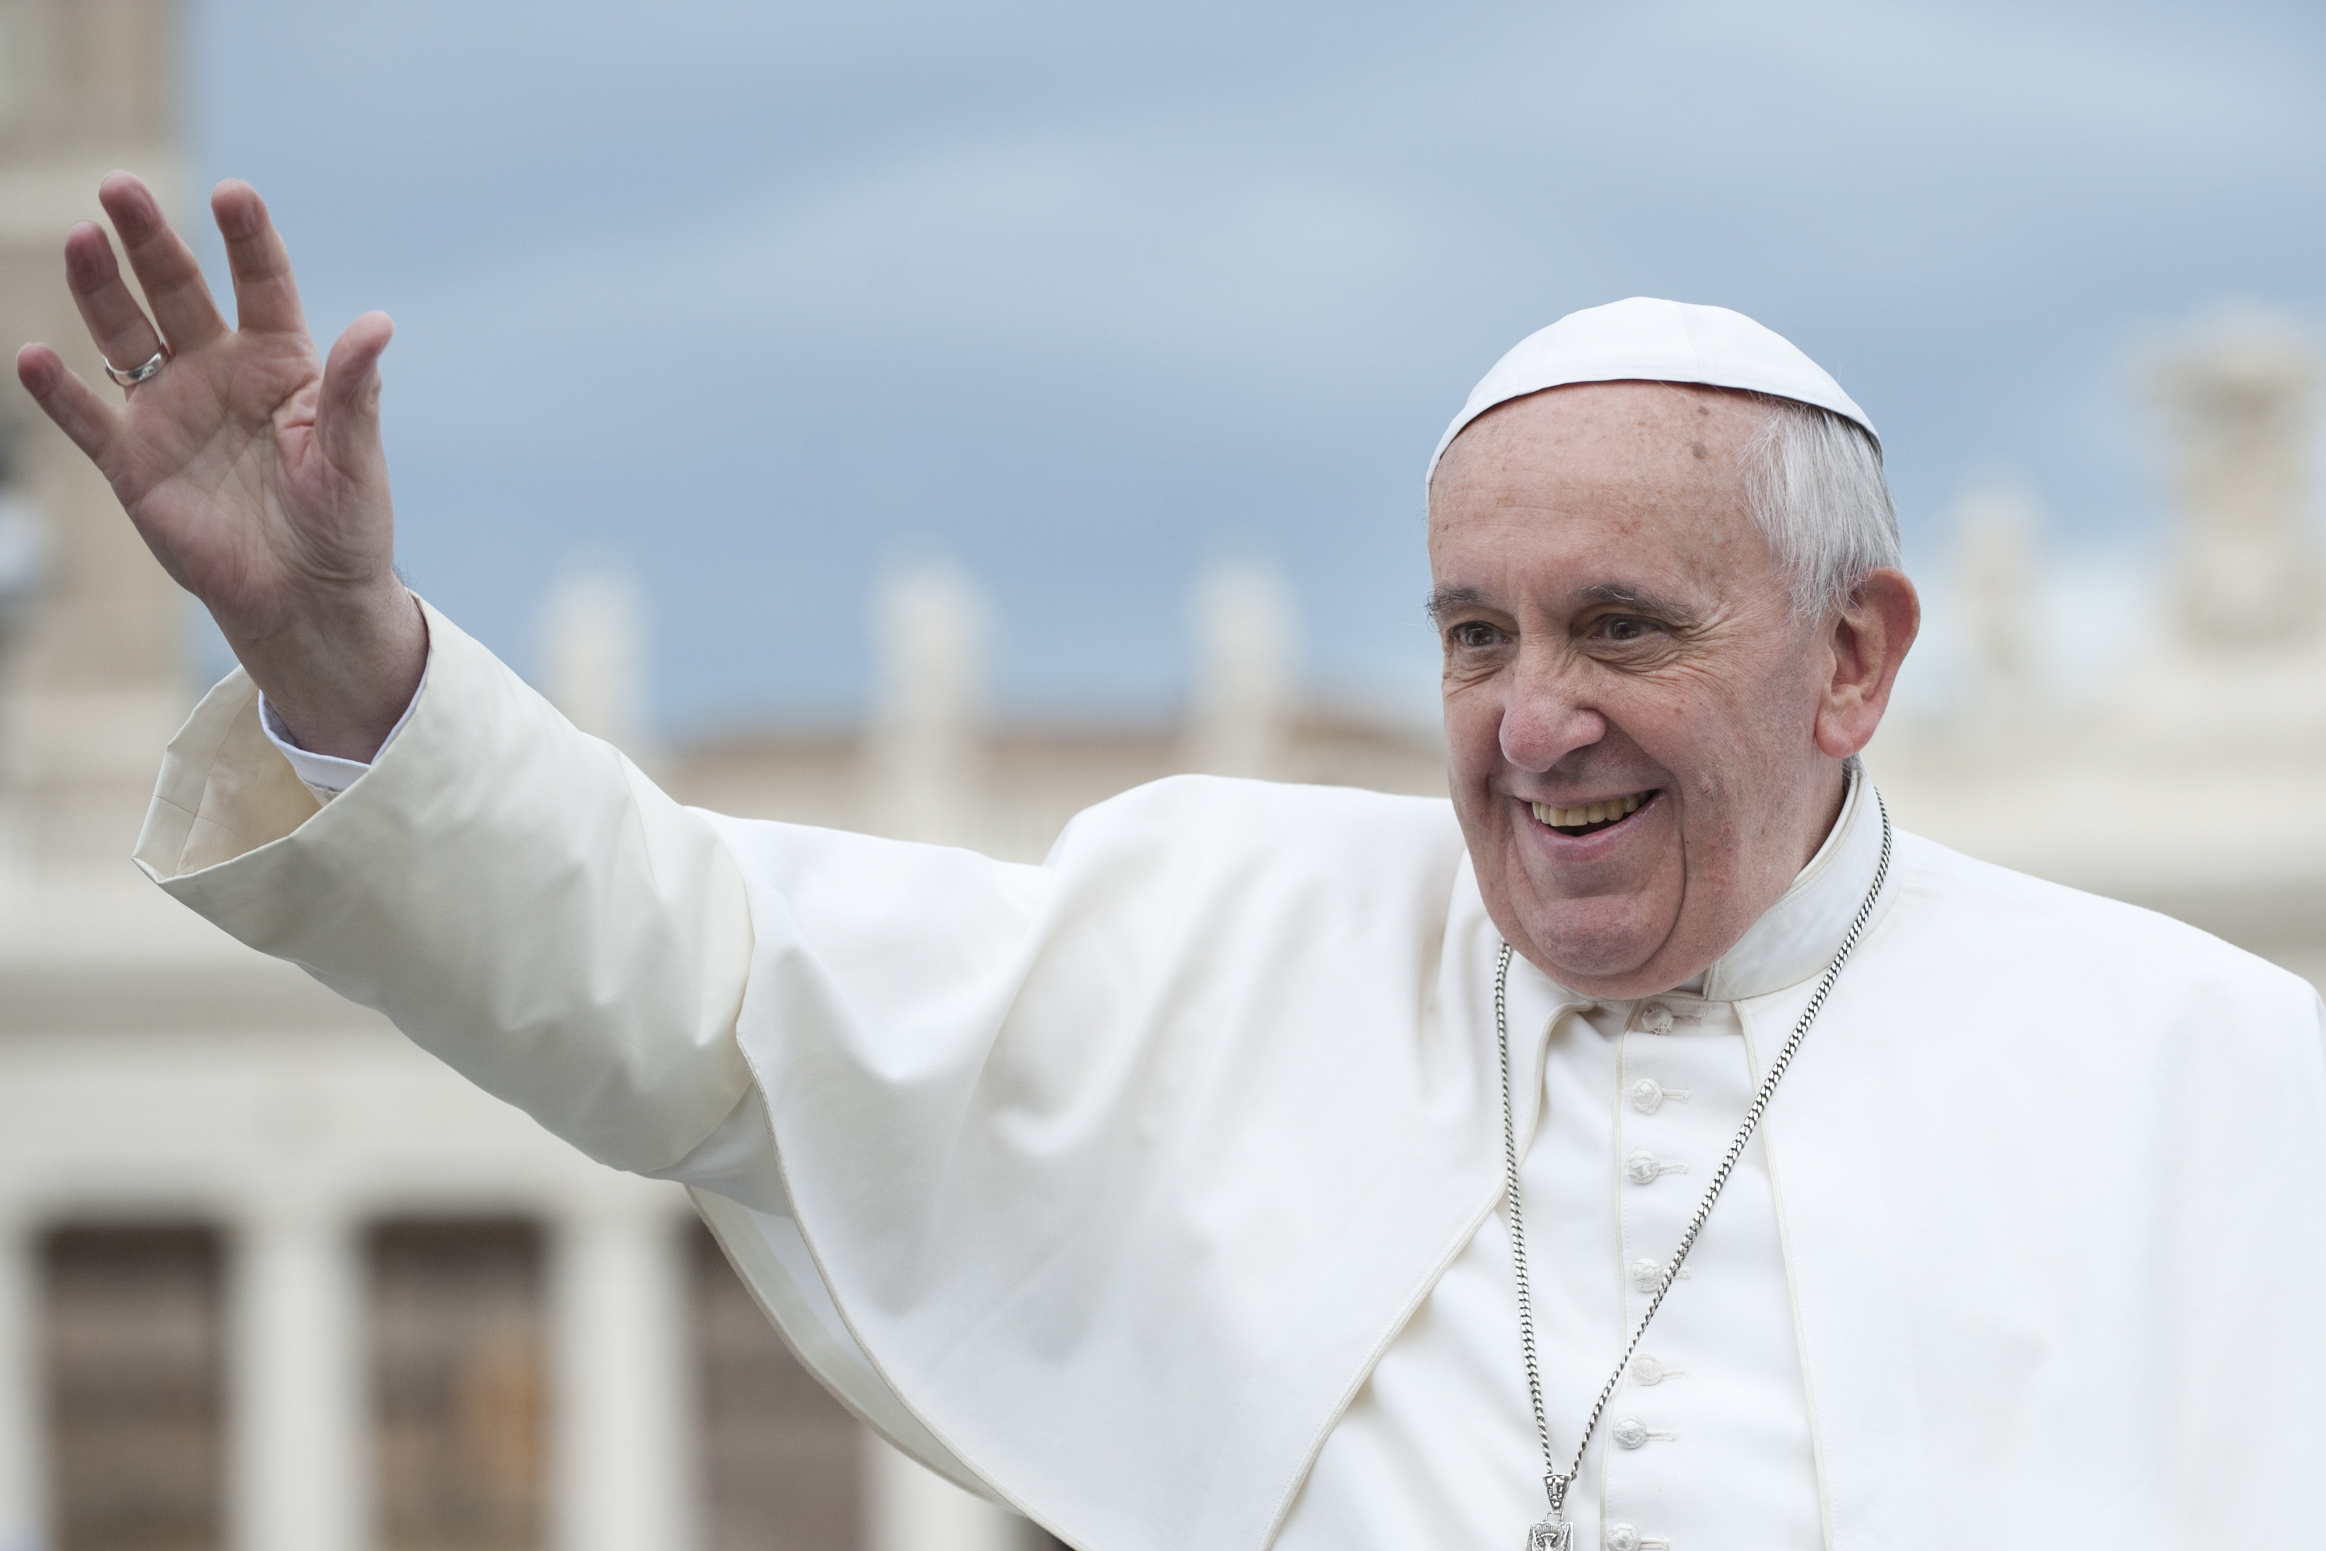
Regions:
<svg viewBox="0 0 2326 1551"><path fill-rule="evenodd" d="M393 744L328 807L230 674L170 742L137 865L591 1158L756 1195L735 858L435 609L428 632Z"/></svg>

